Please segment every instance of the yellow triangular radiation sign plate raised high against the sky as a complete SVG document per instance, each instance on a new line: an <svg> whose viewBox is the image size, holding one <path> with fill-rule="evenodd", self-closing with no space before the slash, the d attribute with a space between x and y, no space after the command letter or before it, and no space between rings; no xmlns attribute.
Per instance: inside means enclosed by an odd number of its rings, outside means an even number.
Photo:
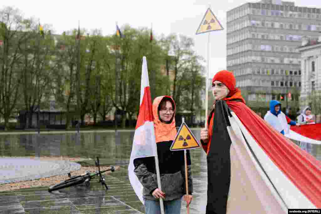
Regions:
<svg viewBox="0 0 321 214"><path fill-rule="evenodd" d="M223 30L221 23L217 20L216 16L210 8L207 9L203 20L198 27L196 34L207 33L213 30Z"/></svg>

